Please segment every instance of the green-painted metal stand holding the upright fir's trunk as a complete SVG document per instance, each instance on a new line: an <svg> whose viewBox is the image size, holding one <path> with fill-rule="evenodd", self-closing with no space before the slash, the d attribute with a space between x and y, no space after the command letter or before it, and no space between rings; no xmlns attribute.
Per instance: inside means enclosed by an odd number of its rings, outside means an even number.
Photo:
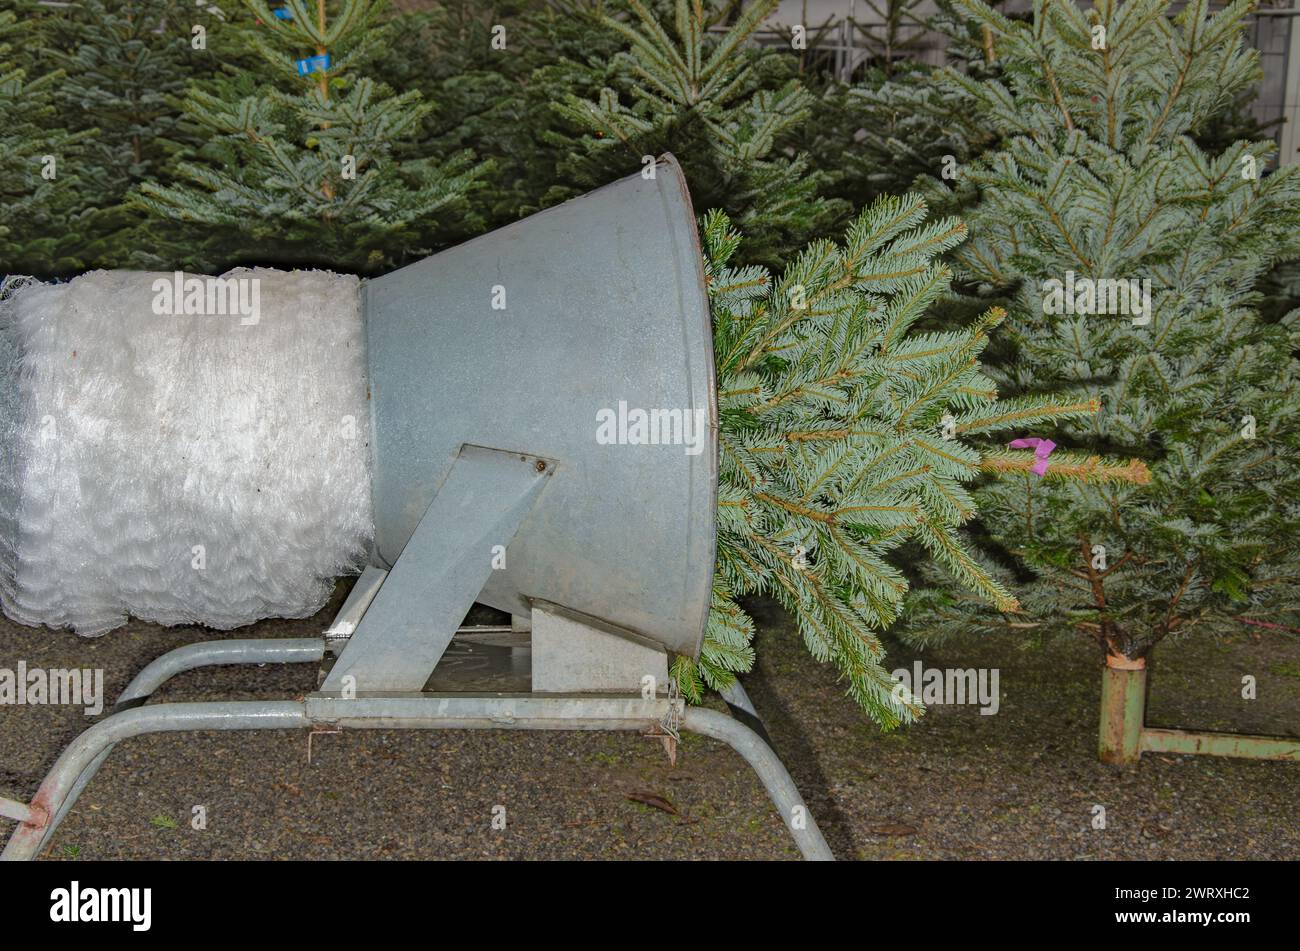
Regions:
<svg viewBox="0 0 1300 951"><path fill-rule="evenodd" d="M1300 737L1169 730L1147 726L1145 659L1108 655L1101 674L1098 754L1105 763L1127 765L1144 752L1201 754L1300 763Z"/></svg>

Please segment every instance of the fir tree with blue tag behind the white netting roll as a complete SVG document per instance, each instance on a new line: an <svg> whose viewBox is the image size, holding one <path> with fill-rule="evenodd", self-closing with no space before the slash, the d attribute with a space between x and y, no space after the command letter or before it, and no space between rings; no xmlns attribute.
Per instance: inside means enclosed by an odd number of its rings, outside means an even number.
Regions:
<svg viewBox="0 0 1300 951"><path fill-rule="evenodd" d="M365 73L385 51L380 0L247 0L242 30L266 74L238 71L190 91L188 120L211 139L181 184L146 183L150 212L217 226L242 257L374 270L426 252L419 236L473 187L468 152L416 148L433 109ZM229 253L235 253L230 251Z"/></svg>

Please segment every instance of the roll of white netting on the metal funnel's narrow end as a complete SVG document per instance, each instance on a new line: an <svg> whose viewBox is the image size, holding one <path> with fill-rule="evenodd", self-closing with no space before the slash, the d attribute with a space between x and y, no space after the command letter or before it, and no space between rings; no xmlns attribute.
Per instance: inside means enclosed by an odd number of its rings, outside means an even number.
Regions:
<svg viewBox="0 0 1300 951"><path fill-rule="evenodd" d="M127 615L303 617L365 557L358 279L240 269L224 279L252 283L226 281L222 303L192 275L176 295L176 277L0 290L0 605L16 621L95 635Z"/></svg>

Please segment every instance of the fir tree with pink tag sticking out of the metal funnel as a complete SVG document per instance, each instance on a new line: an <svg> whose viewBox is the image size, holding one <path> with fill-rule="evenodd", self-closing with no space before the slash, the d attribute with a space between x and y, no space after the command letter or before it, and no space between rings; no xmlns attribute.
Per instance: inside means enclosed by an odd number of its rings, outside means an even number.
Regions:
<svg viewBox="0 0 1300 951"><path fill-rule="evenodd" d="M958 530L975 513L967 483L1035 459L982 452L972 438L1087 417L1095 404L998 400L978 357L1001 311L963 329L913 330L948 288L937 256L965 236L952 218L926 218L915 195L880 199L842 246L815 242L779 277L731 266L740 238L727 216L703 222L722 464L714 611L699 664L675 665L688 696L749 669L753 622L736 598L766 591L872 718L914 718L879 640L907 592L890 555L909 539L980 599L1018 609ZM1057 466L1092 485L1144 474L1074 453Z"/></svg>

